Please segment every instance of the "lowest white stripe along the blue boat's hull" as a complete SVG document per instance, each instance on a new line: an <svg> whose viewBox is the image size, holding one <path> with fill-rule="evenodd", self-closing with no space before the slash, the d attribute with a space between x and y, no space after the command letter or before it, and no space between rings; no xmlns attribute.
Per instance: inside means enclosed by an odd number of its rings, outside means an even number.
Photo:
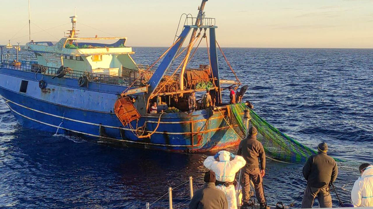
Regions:
<svg viewBox="0 0 373 209"><path fill-rule="evenodd" d="M9 100L8 100L9 101ZM197 146L200 146L202 144L196 144L196 145L166 145L166 144L153 144L153 143L146 143L146 142L136 142L136 141L128 141L128 140L123 140L123 139L115 139L115 138L109 138L109 137L103 137L103 136L98 136L98 135L94 135L94 134L87 134L87 133L84 133L84 132L80 132L80 131L74 131L74 130L71 130L71 129L67 129L67 128L63 128L63 127L58 127L56 125L52 125L52 124L49 124L49 123L45 123L45 122L42 122L40 120L36 120L36 119L33 119L33 118L29 118L25 115L22 115L21 113L15 111L12 109L12 107L10 107L8 104L7 106L9 107L10 110L12 110L13 112L15 112L16 114L24 117L24 118L27 118L29 120L33 120L33 121L36 121L38 123L41 123L41 124L44 124L44 125L48 125L48 126L52 126L54 128L60 128L60 129L64 129L64 130L67 130L67 131L71 131L71 132L75 132L75 133L78 133L78 134L84 134L84 135L88 135L88 136L94 136L94 137L99 137L99 138L106 138L106 139L112 139L112 140L116 140L116 141L121 141L121 142L128 142L128 143L134 143L134 144L145 144L145 145L155 145L155 146L163 146L163 147L197 147Z"/></svg>

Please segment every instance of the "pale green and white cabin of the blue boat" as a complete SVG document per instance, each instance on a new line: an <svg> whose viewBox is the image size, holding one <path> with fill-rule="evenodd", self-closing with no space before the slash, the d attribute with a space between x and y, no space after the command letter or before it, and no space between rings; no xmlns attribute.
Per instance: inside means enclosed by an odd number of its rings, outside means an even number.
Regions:
<svg viewBox="0 0 373 209"><path fill-rule="evenodd" d="M62 38L59 42L29 42L26 49L35 53L38 64L59 68L61 65L75 71L88 71L107 75L122 75L122 68L135 69L125 46L126 37ZM113 44L100 43L117 40Z"/></svg>

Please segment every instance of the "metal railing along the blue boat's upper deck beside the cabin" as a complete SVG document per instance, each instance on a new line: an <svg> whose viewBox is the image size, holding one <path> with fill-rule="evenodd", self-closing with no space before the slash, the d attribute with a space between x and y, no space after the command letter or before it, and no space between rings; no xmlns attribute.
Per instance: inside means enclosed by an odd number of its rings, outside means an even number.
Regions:
<svg viewBox="0 0 373 209"><path fill-rule="evenodd" d="M41 65L33 65L28 63L21 63L21 62L14 62L14 61L7 61L2 60L1 67L10 68L13 70L20 70L30 73L38 73L44 75L56 75L59 68L54 67L46 67ZM95 83L105 83L105 84L113 84L113 85L120 85L120 86L128 86L133 82L131 78L123 78L114 75L104 75L99 73L89 73L87 71L75 71L71 70L68 74L66 74L65 78L74 78L79 79L82 76L87 76L90 82Z"/></svg>

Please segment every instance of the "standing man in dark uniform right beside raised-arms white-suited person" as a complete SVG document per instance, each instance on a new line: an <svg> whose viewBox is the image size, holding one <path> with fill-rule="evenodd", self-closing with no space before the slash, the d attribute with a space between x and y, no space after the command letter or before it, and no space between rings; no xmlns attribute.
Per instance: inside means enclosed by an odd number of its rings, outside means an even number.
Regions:
<svg viewBox="0 0 373 209"><path fill-rule="evenodd" d="M248 137L241 141L238 146L237 155L242 155L246 160L245 167L242 168L242 206L241 209L249 206L250 199L250 179L253 180L256 197L260 203L260 208L266 208L266 197L263 192L263 177L266 168L266 154L263 145L256 139L257 129L253 126L248 131ZM260 159L260 170L259 160Z"/></svg>

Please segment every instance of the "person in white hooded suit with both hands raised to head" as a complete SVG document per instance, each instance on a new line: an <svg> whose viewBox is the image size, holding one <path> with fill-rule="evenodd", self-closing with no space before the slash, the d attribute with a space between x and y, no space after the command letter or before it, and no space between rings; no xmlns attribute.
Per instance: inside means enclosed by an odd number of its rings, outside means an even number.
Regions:
<svg viewBox="0 0 373 209"><path fill-rule="evenodd" d="M233 158L231 160L231 158ZM236 209L236 190L233 182L236 173L244 167L246 161L239 155L233 155L231 152L222 150L215 156L207 157L203 165L216 174L216 188L222 190L228 200L228 208Z"/></svg>

